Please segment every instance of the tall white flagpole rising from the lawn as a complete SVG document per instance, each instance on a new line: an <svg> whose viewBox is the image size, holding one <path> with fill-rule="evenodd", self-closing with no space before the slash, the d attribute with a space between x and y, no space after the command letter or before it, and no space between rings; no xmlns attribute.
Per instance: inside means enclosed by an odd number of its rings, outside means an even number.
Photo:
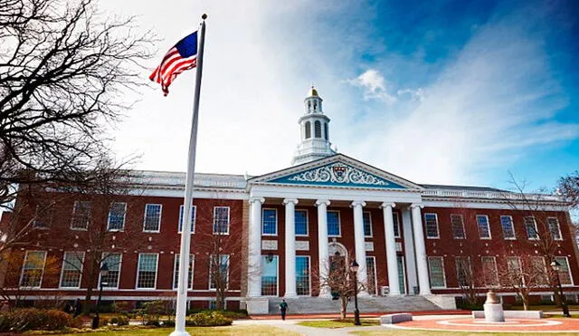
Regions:
<svg viewBox="0 0 579 336"><path fill-rule="evenodd" d="M197 125L199 120L199 94L201 92L201 75L203 73L203 52L205 43L205 19L207 14L201 15L201 38L199 53L197 53L197 73L195 75L195 98L193 101L193 122L189 139L189 153L187 156L187 174L185 177L185 203L183 206L183 227L181 228L181 248L179 252L179 279L177 286L177 305L175 331L171 336L185 336L185 317L187 315L187 284L189 276L189 254L191 251L191 206L193 205L193 183L195 177L195 148L197 146Z"/></svg>

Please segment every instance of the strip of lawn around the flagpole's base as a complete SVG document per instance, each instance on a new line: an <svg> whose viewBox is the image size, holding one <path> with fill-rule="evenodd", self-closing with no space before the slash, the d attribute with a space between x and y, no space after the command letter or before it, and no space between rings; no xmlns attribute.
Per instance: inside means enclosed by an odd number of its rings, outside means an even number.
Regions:
<svg viewBox="0 0 579 336"><path fill-rule="evenodd" d="M80 336L80 335L94 335L94 336L129 336L129 335L146 335L146 336L166 336L173 328L151 328L128 331L95 331L86 333L66 333L58 334L58 336ZM192 335L221 335L221 336L242 336L242 335L281 335L281 336L299 336L298 333L292 331L285 331L280 328L271 327L268 325L233 325L228 327L193 327L187 328ZM36 334L38 335L38 334Z"/></svg>

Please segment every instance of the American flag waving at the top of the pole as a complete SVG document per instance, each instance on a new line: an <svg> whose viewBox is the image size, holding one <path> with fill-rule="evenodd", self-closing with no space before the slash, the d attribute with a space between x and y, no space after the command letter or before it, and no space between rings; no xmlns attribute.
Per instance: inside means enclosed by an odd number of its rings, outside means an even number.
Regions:
<svg viewBox="0 0 579 336"><path fill-rule="evenodd" d="M169 85L176 76L193 69L197 65L197 32L190 34L175 44L166 53L161 64L151 73L148 78L153 82L161 84L163 94L169 93Z"/></svg>

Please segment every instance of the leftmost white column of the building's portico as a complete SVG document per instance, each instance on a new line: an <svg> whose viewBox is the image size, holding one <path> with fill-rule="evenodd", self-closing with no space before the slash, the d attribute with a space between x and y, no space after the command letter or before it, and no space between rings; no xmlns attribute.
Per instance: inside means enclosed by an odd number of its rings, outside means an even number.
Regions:
<svg viewBox="0 0 579 336"><path fill-rule="evenodd" d="M251 197L250 242L247 265L249 297L261 296L261 204L263 197Z"/></svg>

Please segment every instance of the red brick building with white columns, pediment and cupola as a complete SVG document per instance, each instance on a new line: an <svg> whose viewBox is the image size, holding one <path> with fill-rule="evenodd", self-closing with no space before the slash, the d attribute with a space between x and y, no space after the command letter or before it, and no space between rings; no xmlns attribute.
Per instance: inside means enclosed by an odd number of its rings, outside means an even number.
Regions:
<svg viewBox="0 0 579 336"><path fill-rule="evenodd" d="M532 259L546 273L533 300L553 294L553 260L562 265L565 292L576 299L579 264L564 200L415 184L331 149L329 118L313 88L305 109L292 167L259 177L195 175L192 306L214 302L209 258L216 254L207 244L214 235L223 237L228 309L268 312L275 297L327 298L331 289L320 288L318 277L332 257L348 254L361 265L362 297L419 295L451 307L469 281L468 268L479 274L480 294L493 287L514 302L516 293L499 286L501 270ZM7 268L3 288L29 300L51 293L83 297L90 283L82 268L94 241L86 235L100 226L108 232L104 300L173 300L185 174L139 174L135 192L107 205L100 220L89 219L96 216L90 199L48 192L60 200L58 211L38 217L29 244L12 249L20 264ZM45 276L49 260L53 274Z"/></svg>

